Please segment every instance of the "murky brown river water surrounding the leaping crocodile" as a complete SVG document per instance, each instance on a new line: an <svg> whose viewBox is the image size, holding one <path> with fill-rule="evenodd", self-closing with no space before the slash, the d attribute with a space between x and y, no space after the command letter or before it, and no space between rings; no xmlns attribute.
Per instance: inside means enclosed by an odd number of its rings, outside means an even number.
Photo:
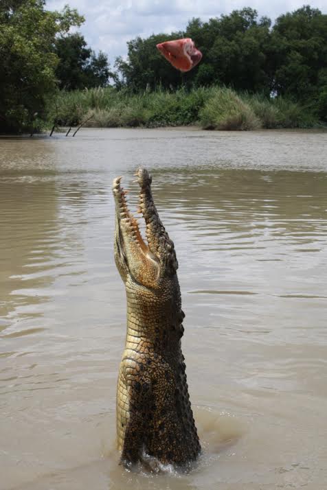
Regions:
<svg viewBox="0 0 327 490"><path fill-rule="evenodd" d="M326 489L326 154L322 132L0 139L1 489ZM179 259L185 474L117 465L111 181L133 205L140 164Z"/></svg>

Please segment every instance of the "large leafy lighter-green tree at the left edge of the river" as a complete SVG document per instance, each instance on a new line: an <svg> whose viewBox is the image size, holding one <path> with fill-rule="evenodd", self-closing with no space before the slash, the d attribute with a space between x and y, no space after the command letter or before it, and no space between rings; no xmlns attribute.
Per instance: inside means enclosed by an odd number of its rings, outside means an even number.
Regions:
<svg viewBox="0 0 327 490"><path fill-rule="evenodd" d="M75 9L45 10L43 0L0 3L0 132L29 129L44 116L46 97L56 89L58 34L81 25Z"/></svg>

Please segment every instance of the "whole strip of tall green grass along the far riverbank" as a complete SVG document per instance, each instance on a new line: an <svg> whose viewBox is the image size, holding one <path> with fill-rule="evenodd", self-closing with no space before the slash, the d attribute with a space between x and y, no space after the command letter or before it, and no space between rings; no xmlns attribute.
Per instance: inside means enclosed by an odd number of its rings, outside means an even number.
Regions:
<svg viewBox="0 0 327 490"><path fill-rule="evenodd" d="M49 104L49 123L96 128L184 126L204 129L256 130L312 128L319 120L299 104L282 97L238 94L224 87L131 94L112 87L61 91Z"/></svg>

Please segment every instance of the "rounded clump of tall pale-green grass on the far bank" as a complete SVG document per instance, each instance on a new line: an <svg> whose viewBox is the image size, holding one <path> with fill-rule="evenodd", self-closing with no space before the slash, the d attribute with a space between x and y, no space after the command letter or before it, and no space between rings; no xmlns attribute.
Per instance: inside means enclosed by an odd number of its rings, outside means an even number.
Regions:
<svg viewBox="0 0 327 490"><path fill-rule="evenodd" d="M200 111L204 129L255 130L261 126L253 109L231 89L216 89Z"/></svg>

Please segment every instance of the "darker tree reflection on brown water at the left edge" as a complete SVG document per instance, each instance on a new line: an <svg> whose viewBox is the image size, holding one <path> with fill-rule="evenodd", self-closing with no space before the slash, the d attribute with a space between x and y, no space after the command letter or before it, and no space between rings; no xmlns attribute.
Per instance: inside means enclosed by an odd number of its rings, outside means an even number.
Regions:
<svg viewBox="0 0 327 490"><path fill-rule="evenodd" d="M24 327L28 327L29 320L43 316L34 304L47 301L44 292L53 282L44 264L54 260L54 182L0 181L0 195L5 196L1 199L0 315L4 321L0 329L8 327L15 310L22 312Z"/></svg>

